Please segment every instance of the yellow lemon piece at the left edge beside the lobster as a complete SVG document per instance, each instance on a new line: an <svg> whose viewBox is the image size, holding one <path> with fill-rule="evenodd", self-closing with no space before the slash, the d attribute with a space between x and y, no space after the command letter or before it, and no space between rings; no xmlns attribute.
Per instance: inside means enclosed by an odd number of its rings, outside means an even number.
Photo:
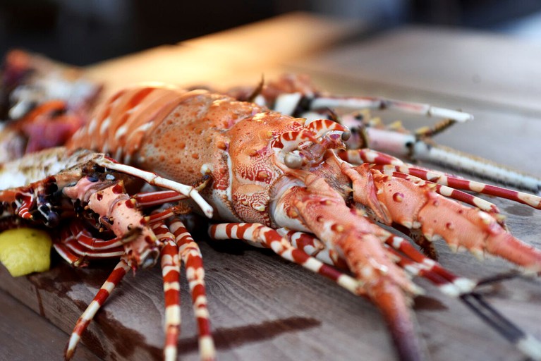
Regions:
<svg viewBox="0 0 541 361"><path fill-rule="evenodd" d="M0 233L0 262L11 276L47 271L51 264L51 237L32 228L10 229Z"/></svg>

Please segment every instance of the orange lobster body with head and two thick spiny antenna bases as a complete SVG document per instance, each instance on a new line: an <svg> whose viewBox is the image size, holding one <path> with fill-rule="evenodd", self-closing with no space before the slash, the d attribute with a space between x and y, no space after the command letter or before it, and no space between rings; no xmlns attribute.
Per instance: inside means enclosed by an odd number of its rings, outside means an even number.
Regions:
<svg viewBox="0 0 541 361"><path fill-rule="evenodd" d="M541 252L513 238L496 216L449 201L434 186L353 167L336 157L334 149L344 149L348 134L332 121L293 118L221 94L142 87L113 97L68 147L107 151L186 184L210 175L212 184L202 195L216 219L313 233L344 259L363 293L382 309L404 359L420 355L407 310L408 300L420 291L383 246L388 233L360 209L387 224L420 228L430 239L442 236L451 247L492 252L541 271ZM407 202L412 197L415 202ZM434 223L428 214L437 209L451 219ZM243 238L231 232L211 235ZM274 247L276 235L268 237Z"/></svg>

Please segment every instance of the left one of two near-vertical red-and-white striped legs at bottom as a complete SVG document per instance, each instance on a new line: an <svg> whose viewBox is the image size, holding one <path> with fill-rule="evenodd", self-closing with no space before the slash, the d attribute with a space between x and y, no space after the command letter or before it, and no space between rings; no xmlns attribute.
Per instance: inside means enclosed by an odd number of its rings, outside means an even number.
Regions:
<svg viewBox="0 0 541 361"><path fill-rule="evenodd" d="M181 262L178 259L178 246L169 228L159 222L152 225L152 231L164 245L161 251L165 298L164 360L174 361L177 358L178 336L181 334Z"/></svg>

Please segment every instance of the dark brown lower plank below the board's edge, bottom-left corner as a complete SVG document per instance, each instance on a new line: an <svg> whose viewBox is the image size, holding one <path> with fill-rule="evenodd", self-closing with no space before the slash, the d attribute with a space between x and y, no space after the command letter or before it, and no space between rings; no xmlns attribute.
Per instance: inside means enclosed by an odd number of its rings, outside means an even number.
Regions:
<svg viewBox="0 0 541 361"><path fill-rule="evenodd" d="M0 310L2 360L61 360L67 334L3 291L0 291ZM33 352L36 345L39 352ZM79 357L100 360L85 345L80 348Z"/></svg>

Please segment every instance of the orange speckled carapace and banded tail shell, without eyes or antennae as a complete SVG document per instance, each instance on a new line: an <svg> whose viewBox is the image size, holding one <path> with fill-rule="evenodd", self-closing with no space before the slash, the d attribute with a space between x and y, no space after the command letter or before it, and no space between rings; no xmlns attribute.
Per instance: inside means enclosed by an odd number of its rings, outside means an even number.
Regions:
<svg viewBox="0 0 541 361"><path fill-rule="evenodd" d="M111 98L69 146L188 185L210 172L202 195L220 218L270 224L271 188L283 174L270 142L303 123L223 94L142 87Z"/></svg>

